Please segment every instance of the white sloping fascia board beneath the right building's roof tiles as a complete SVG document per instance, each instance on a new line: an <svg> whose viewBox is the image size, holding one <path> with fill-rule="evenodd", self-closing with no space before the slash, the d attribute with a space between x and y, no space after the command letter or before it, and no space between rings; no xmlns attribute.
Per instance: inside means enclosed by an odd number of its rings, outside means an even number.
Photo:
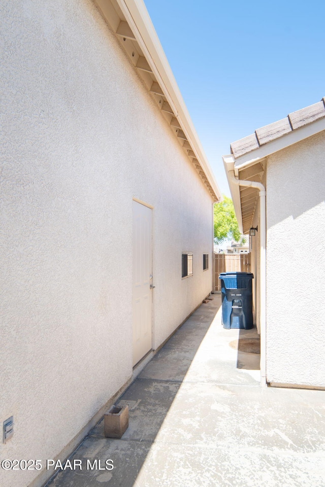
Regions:
<svg viewBox="0 0 325 487"><path fill-rule="evenodd" d="M305 138L315 135L322 130L325 130L325 118L315 120L315 122L309 123L308 125L296 128L292 132L282 135L254 151L243 154L235 159L235 173L238 173L238 170L243 169L244 167L254 164L259 159L263 159L264 157L281 151L288 146L303 141Z"/></svg>

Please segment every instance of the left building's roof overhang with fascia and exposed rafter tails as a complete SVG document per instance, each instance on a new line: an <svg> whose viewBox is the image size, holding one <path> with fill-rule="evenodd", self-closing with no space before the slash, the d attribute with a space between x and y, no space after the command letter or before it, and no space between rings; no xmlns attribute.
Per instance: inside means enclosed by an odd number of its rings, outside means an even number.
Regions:
<svg viewBox="0 0 325 487"><path fill-rule="evenodd" d="M143 0L94 0L214 201L221 193Z"/></svg>

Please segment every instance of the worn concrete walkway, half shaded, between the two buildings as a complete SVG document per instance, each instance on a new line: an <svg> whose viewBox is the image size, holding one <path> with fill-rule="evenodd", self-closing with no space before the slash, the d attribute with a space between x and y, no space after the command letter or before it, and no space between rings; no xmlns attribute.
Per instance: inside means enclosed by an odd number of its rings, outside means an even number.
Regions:
<svg viewBox="0 0 325 487"><path fill-rule="evenodd" d="M259 386L259 356L229 343L220 296L191 315L126 390L122 439L103 420L71 459L114 469L62 471L49 487L324 487L325 391Z"/></svg>

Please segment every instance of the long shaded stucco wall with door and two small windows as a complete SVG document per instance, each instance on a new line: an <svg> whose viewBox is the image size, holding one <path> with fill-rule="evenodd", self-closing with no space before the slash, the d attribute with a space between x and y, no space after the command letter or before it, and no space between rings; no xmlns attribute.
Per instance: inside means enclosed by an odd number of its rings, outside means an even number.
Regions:
<svg viewBox="0 0 325 487"><path fill-rule="evenodd" d="M132 198L154 207L154 348L211 291L212 201L90 0L11 0L0 22L0 456L44 461L132 374Z"/></svg>

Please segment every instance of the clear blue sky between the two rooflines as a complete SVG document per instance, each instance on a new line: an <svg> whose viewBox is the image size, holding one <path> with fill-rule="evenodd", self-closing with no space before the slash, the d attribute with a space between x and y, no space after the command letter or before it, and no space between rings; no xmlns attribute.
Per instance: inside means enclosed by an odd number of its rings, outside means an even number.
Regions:
<svg viewBox="0 0 325 487"><path fill-rule="evenodd" d="M325 2L144 0L214 170L231 142L325 96Z"/></svg>

